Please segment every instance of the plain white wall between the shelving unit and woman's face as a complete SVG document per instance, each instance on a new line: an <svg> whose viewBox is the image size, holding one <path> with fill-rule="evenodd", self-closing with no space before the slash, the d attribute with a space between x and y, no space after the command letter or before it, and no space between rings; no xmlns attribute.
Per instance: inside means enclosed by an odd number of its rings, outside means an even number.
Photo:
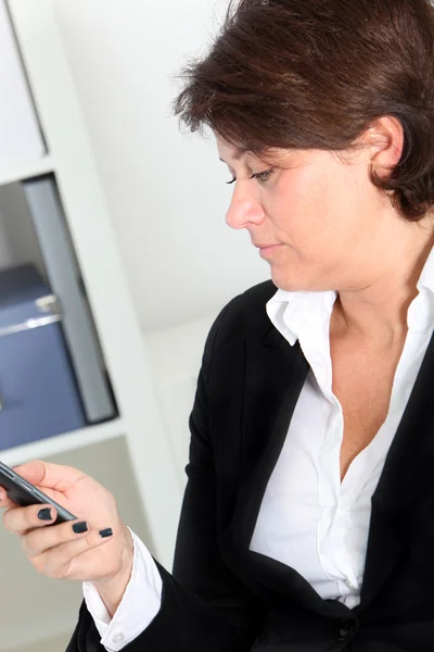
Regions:
<svg viewBox="0 0 434 652"><path fill-rule="evenodd" d="M227 0L52 2L143 328L216 316L269 267L225 223L214 141L179 133L170 102Z"/></svg>

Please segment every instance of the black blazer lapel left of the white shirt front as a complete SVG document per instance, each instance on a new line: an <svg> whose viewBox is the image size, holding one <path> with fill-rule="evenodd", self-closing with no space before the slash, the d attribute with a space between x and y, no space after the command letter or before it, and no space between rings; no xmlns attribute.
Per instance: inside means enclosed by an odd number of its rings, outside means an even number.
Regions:
<svg viewBox="0 0 434 652"><path fill-rule="evenodd" d="M247 340L242 416L242 472L235 509L222 537L227 562L261 598L282 599L323 616L347 615L347 607L324 601L294 568L250 550L268 479L279 459L309 364L275 328L261 340ZM226 555L225 555L226 556Z"/></svg>

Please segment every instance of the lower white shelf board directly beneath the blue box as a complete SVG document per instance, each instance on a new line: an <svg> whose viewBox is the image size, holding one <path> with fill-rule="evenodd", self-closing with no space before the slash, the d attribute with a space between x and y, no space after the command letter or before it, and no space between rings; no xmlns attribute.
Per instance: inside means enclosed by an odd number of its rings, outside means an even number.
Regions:
<svg viewBox="0 0 434 652"><path fill-rule="evenodd" d="M31 460L44 460L51 455L65 453L81 447L107 441L125 435L122 418L115 418L104 424L88 426L73 432L49 437L18 446L13 449L0 450L0 460L14 466Z"/></svg>

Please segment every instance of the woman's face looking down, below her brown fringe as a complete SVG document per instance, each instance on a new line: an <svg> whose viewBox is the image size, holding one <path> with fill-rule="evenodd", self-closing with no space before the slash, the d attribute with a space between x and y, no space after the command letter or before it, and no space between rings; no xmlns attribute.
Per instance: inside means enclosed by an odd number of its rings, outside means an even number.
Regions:
<svg viewBox="0 0 434 652"><path fill-rule="evenodd" d="M273 167L248 152L238 158L219 137L217 147L237 178L227 224L246 228L253 244L279 244L260 252L277 287L359 289L384 271L394 229L398 237L406 224L370 181L368 152L344 163L333 152L281 150Z"/></svg>

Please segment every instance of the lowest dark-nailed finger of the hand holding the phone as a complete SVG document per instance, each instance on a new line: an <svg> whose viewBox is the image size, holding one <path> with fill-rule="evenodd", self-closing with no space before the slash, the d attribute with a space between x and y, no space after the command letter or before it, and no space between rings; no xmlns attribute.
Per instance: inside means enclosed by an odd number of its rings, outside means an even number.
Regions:
<svg viewBox="0 0 434 652"><path fill-rule="evenodd" d="M90 550L100 548L113 540L113 534L107 537L102 537L99 530L91 530L75 541L61 543L54 548L46 550L42 554L33 559L33 564L40 573L55 579L65 579L66 577L75 578L76 567L80 564L81 555ZM106 569L105 569L106 570ZM110 569L108 569L110 570ZM114 569L115 572L116 569ZM89 574L97 572L97 568L82 568L88 577ZM85 576L84 576L85 577ZM84 579L78 577L78 579Z"/></svg>

